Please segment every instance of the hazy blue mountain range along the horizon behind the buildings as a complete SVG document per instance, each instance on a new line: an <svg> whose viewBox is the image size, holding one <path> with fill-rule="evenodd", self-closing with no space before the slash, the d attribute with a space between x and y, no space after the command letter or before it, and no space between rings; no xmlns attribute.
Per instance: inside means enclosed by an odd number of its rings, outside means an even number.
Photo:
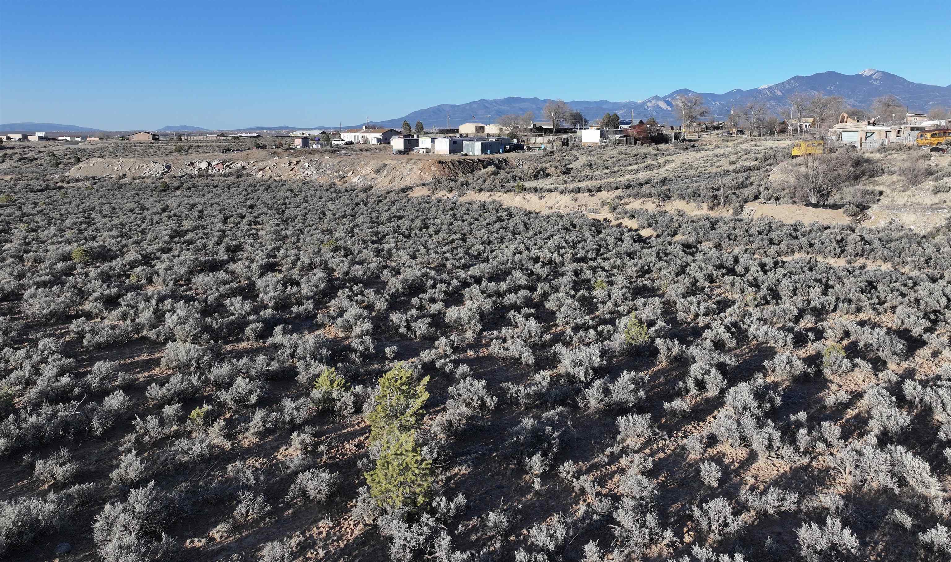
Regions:
<svg viewBox="0 0 951 562"><path fill-rule="evenodd" d="M767 107L767 111L778 114L783 107L788 107L789 96L793 93L814 95L823 92L825 95L842 96L845 103L851 107L870 107L875 98L892 94L897 96L908 107L909 111L927 111L931 107L951 107L951 85L932 86L917 84L905 80L901 76L868 68L857 74L842 74L840 72L819 72L810 76L793 76L778 84L767 84L752 89L731 89L726 93L696 92L690 89L676 89L667 95L650 96L645 100L611 102L608 100L574 100L566 102L573 109L581 111L589 120L599 119L605 113L617 113L622 119L643 119L653 117L660 123L676 122L678 116L674 114L673 99L679 94L697 94L704 98L704 103L710 109L710 117L726 119L731 107L746 106L750 102L760 102ZM399 128L403 121L415 125L421 121L427 127L444 126L446 117L449 117L450 128L462 123L476 120L480 123L495 123L502 115L518 114L532 111L538 121L544 121L542 108L550 98L520 98L508 97L495 100L476 100L468 104L441 104L439 106L417 109L402 117L383 121L374 121L378 126L392 126ZM474 117L475 116L475 117ZM359 125L357 125L359 126ZM347 126L350 128L354 126ZM263 130L298 130L336 128L329 126L249 126L231 131L263 131ZM0 125L2 131L87 131L95 132L100 129L74 125L59 125L54 123L7 123ZM164 126L156 132L168 131L205 131L200 126L175 125Z"/></svg>

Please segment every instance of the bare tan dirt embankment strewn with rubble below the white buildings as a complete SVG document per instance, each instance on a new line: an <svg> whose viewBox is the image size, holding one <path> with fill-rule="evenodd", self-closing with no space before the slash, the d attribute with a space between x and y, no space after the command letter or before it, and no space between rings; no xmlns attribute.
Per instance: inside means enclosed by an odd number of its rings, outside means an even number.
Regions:
<svg viewBox="0 0 951 562"><path fill-rule="evenodd" d="M417 185L436 178L473 175L489 166L511 165L505 157L410 158L365 154L275 155L266 150L250 150L240 156L222 154L171 158L90 158L73 166L68 176L88 178L182 178L207 175L243 174L256 178L312 180L337 184L368 184L382 188Z"/></svg>

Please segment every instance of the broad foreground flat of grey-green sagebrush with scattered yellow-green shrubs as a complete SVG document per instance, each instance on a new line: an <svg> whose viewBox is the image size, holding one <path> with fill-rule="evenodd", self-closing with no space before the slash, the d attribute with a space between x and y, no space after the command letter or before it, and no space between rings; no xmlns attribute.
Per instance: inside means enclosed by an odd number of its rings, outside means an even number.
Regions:
<svg viewBox="0 0 951 562"><path fill-rule="evenodd" d="M951 555L947 228L10 185L0 556Z"/></svg>

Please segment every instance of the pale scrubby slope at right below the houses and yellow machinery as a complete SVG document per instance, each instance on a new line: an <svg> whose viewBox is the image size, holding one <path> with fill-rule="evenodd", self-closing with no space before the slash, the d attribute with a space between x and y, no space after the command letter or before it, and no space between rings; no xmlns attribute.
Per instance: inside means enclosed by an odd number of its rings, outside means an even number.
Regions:
<svg viewBox="0 0 951 562"><path fill-rule="evenodd" d="M511 156L506 169L437 178L436 193L490 191L580 194L611 191L618 203L638 199L684 201L740 214L744 203L822 203L861 210L884 192L902 193L926 182L951 190L951 158L918 147L890 145L875 153L837 149L820 158L791 160L793 139L705 140L696 145L556 146ZM943 181L942 181L943 180ZM916 199L920 201L915 201ZM912 198L912 203L928 203ZM861 221L860 221L861 222Z"/></svg>

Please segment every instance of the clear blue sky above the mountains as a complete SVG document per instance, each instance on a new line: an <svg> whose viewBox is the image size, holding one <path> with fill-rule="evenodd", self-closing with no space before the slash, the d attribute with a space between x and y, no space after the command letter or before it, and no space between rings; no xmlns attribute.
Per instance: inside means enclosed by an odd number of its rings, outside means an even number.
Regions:
<svg viewBox="0 0 951 562"><path fill-rule="evenodd" d="M951 3L3 0L0 123L353 125L864 68L946 86L946 41L910 37L919 16L947 29Z"/></svg>

